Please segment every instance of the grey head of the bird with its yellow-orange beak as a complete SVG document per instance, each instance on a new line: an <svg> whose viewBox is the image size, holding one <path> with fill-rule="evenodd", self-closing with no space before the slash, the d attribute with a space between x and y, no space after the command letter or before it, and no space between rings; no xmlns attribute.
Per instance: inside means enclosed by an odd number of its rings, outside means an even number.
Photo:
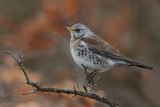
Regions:
<svg viewBox="0 0 160 107"><path fill-rule="evenodd" d="M94 35L87 26L81 23L74 24L72 27L66 27L65 29L70 31L71 37L74 39L87 38Z"/></svg>

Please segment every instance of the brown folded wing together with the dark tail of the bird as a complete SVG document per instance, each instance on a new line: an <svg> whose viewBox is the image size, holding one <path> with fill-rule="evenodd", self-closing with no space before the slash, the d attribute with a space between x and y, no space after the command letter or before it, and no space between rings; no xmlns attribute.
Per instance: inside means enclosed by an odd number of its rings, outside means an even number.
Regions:
<svg viewBox="0 0 160 107"><path fill-rule="evenodd" d="M153 69L153 67L126 58L118 50L110 46L107 42L105 42L98 36L92 36L90 38L82 38L81 40L86 44L88 44L89 49L91 51L101 56L104 56L106 58L111 58L113 60L125 61L127 62L127 65L142 67L145 69Z"/></svg>

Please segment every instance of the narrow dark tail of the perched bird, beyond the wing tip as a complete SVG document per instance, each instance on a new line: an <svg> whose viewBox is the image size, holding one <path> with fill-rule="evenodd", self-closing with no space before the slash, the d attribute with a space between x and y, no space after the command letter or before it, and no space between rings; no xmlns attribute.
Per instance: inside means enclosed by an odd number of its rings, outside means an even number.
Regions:
<svg viewBox="0 0 160 107"><path fill-rule="evenodd" d="M129 66L136 66L136 67L141 67L141 68L145 68L145 69L149 69L149 70L153 69L153 67L151 67L151 66L148 66L148 65L145 65L145 64L142 64L139 62L135 62L132 60L128 60L126 62L128 62L130 64Z"/></svg>

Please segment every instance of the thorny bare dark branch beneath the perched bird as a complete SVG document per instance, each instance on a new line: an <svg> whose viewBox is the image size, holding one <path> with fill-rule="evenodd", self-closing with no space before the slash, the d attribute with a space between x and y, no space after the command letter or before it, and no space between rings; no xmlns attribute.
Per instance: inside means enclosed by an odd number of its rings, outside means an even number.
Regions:
<svg viewBox="0 0 160 107"><path fill-rule="evenodd" d="M36 93L38 91L39 92L53 92L53 93L58 93L58 94L65 93L65 94L69 94L69 95L73 94L74 96L79 95L79 96L83 96L83 97L88 97L88 98L91 98L93 100L97 100L97 101L100 101L102 103L108 104L110 107L119 107L119 105L116 104L115 102L110 101L110 100L108 100L104 97L101 97L101 96L99 96L95 93L90 93L88 91L81 91L81 90L77 91L75 86L74 86L74 90L42 87L41 85L38 84L38 82L33 82L32 80L30 80L29 76L27 75L26 68L23 66L24 56L19 55L19 58L17 58L10 51L5 51L4 53L9 54L16 61L16 63L18 64L18 66L20 67L20 69L22 70L22 72L25 75L25 78L26 78L26 81L27 81L26 84L31 85L31 86L36 88L35 90L33 90L31 92L24 93L22 95L33 94L33 93ZM77 85L77 87L79 88L78 85Z"/></svg>

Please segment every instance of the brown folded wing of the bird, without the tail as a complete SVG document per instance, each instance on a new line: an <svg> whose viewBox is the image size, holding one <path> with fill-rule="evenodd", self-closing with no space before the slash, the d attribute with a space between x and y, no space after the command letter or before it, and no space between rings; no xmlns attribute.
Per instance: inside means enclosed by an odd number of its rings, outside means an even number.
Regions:
<svg viewBox="0 0 160 107"><path fill-rule="evenodd" d="M128 58L124 57L118 50L110 46L107 42L96 35L90 38L83 38L82 41L88 44L91 51L94 51L99 55L116 60L129 60Z"/></svg>

